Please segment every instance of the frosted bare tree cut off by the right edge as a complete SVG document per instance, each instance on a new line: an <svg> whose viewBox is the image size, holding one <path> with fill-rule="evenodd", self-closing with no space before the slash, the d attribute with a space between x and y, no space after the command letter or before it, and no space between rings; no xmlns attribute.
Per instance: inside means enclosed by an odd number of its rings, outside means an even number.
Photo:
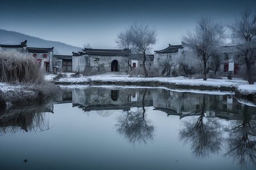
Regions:
<svg viewBox="0 0 256 170"><path fill-rule="evenodd" d="M253 66L256 59L256 12L246 7L234 23L228 27L233 32L233 38L238 41L241 63L246 64L246 75L249 84L253 84Z"/></svg>

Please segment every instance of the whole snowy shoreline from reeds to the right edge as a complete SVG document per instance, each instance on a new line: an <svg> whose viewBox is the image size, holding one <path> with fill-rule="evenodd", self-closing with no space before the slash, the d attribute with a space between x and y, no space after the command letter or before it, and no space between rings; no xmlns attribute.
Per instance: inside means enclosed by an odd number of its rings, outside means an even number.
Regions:
<svg viewBox="0 0 256 170"><path fill-rule="evenodd" d="M256 83L248 84L246 80L233 78L222 79L189 79L184 76L179 77L154 77L141 78L130 77L125 73L105 73L92 76L80 75L78 78L72 78L67 73L67 78L53 80L55 74L46 75L46 80L57 85L89 85L89 86L137 86L137 87L165 87L170 90L190 90L190 91L225 91L236 94L239 98L249 100L256 105Z"/></svg>

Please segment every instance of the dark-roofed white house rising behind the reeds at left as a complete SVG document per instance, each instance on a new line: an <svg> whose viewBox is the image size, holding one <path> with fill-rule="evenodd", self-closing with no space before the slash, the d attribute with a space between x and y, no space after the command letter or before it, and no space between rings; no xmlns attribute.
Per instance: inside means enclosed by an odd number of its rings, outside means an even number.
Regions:
<svg viewBox="0 0 256 170"><path fill-rule="evenodd" d="M27 40L21 42L19 45L2 45L2 50L16 50L20 53L32 54L36 61L39 61L46 71L53 71L53 47L52 48L32 48L27 47Z"/></svg>

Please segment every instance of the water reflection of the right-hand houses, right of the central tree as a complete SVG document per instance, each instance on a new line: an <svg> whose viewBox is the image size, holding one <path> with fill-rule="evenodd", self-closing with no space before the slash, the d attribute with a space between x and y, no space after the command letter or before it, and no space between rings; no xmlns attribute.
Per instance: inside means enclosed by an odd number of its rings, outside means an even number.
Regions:
<svg viewBox="0 0 256 170"><path fill-rule="evenodd" d="M192 116L201 114L204 94L181 93L167 90L155 90L154 108L167 115ZM232 95L205 95L205 116L226 119L238 119L243 107Z"/></svg>

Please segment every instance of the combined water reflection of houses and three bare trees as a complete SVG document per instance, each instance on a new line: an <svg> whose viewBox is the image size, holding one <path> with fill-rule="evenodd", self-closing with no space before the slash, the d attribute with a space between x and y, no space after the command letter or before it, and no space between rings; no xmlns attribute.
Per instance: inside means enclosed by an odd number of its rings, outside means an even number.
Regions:
<svg viewBox="0 0 256 170"><path fill-rule="evenodd" d="M256 165L256 108L239 103L233 95L89 87L86 90L73 89L72 104L87 113L96 111L102 117L111 116L113 110L122 111L115 127L132 145L154 141L155 127L146 118L145 109L154 107L155 111L165 112L167 116L180 117L183 128L180 129L179 139L191 146L191 153L196 158L205 159L227 150L225 156L233 158L242 168ZM228 126L227 129L222 124L223 119L236 123L233 128ZM229 131L228 139L224 135L226 131Z"/></svg>

